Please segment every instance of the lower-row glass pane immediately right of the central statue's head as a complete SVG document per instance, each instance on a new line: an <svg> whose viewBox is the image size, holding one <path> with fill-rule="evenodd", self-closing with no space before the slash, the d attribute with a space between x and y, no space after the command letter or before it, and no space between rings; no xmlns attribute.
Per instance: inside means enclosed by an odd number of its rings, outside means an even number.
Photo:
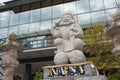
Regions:
<svg viewBox="0 0 120 80"><path fill-rule="evenodd" d="M79 24L81 25L81 27L83 27L83 28L88 27L88 24L91 23L90 14L78 15L78 23L79 23Z"/></svg>

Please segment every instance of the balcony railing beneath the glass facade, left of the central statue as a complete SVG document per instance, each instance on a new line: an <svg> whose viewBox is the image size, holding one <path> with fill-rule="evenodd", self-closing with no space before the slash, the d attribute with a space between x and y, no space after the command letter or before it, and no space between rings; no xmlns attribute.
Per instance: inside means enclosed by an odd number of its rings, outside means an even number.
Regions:
<svg viewBox="0 0 120 80"><path fill-rule="evenodd" d="M45 39L36 39L36 40L28 40L21 39L18 42L23 44L24 50L29 49L37 49L37 48L45 48L53 46L53 38L45 38Z"/></svg>

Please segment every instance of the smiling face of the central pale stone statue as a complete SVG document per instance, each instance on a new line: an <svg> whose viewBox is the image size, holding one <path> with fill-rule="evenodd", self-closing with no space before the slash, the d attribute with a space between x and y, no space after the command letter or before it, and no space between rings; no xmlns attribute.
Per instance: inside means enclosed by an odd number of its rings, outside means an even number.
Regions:
<svg viewBox="0 0 120 80"><path fill-rule="evenodd" d="M70 25L70 24L73 24L73 23L75 23L75 20L73 19L73 17L71 15L64 15L61 18L60 25L61 26L67 26L67 25Z"/></svg>

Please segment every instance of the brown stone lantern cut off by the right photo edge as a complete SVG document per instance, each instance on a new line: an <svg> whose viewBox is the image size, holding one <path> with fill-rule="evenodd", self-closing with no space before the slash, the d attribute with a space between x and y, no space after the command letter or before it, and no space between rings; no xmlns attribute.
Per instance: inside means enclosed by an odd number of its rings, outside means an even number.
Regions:
<svg viewBox="0 0 120 80"><path fill-rule="evenodd" d="M120 56L120 10L113 15L113 19L111 26L105 29L105 33L114 39L115 48L112 53Z"/></svg>

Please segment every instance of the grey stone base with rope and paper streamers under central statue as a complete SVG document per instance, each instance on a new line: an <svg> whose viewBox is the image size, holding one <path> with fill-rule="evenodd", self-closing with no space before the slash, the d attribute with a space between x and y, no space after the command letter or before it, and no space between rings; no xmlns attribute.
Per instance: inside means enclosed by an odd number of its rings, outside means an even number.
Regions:
<svg viewBox="0 0 120 80"><path fill-rule="evenodd" d="M44 80L107 80L91 62L45 66Z"/></svg>

